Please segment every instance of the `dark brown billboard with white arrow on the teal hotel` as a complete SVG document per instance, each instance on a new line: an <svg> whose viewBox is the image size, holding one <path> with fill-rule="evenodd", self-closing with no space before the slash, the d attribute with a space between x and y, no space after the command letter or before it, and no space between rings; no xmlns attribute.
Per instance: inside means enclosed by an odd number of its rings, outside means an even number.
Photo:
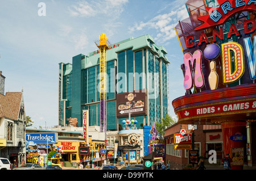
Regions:
<svg viewBox="0 0 256 181"><path fill-rule="evenodd" d="M146 89L117 94L117 117L146 115Z"/></svg>

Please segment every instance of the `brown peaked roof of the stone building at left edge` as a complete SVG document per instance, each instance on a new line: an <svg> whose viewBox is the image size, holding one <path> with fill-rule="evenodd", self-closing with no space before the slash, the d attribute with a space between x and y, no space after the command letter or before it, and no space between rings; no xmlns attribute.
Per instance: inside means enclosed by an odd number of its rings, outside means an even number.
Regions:
<svg viewBox="0 0 256 181"><path fill-rule="evenodd" d="M6 95L0 94L0 117L18 120L21 102L22 92L6 92Z"/></svg>

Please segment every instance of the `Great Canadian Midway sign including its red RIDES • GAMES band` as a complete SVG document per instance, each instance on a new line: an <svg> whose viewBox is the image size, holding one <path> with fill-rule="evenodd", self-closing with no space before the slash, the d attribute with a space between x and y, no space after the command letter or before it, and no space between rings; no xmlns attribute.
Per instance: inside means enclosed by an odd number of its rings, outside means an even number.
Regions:
<svg viewBox="0 0 256 181"><path fill-rule="evenodd" d="M183 30L180 22L175 28L184 53L187 95L172 102L179 121L255 112L256 1L216 3L205 6L203 16L189 12L191 30ZM198 97L192 98L192 89L200 92Z"/></svg>

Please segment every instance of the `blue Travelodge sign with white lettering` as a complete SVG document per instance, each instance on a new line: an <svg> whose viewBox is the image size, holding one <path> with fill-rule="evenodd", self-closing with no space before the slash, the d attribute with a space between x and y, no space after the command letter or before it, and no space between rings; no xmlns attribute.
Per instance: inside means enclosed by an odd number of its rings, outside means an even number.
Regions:
<svg viewBox="0 0 256 181"><path fill-rule="evenodd" d="M33 141L36 144L56 144L58 142L57 133L26 133L26 141Z"/></svg>

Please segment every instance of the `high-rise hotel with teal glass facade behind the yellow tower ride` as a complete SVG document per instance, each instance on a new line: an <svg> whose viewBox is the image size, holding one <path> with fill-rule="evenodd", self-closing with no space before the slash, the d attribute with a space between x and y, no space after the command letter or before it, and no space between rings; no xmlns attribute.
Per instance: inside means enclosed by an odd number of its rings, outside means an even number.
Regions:
<svg viewBox="0 0 256 181"><path fill-rule="evenodd" d="M168 114L166 54L150 35L130 37L106 51L107 130L118 130L129 119L129 110L139 128ZM99 50L78 54L72 64L59 64L59 125L72 117L82 127L82 110L89 110L89 125L100 125L99 64Z"/></svg>

